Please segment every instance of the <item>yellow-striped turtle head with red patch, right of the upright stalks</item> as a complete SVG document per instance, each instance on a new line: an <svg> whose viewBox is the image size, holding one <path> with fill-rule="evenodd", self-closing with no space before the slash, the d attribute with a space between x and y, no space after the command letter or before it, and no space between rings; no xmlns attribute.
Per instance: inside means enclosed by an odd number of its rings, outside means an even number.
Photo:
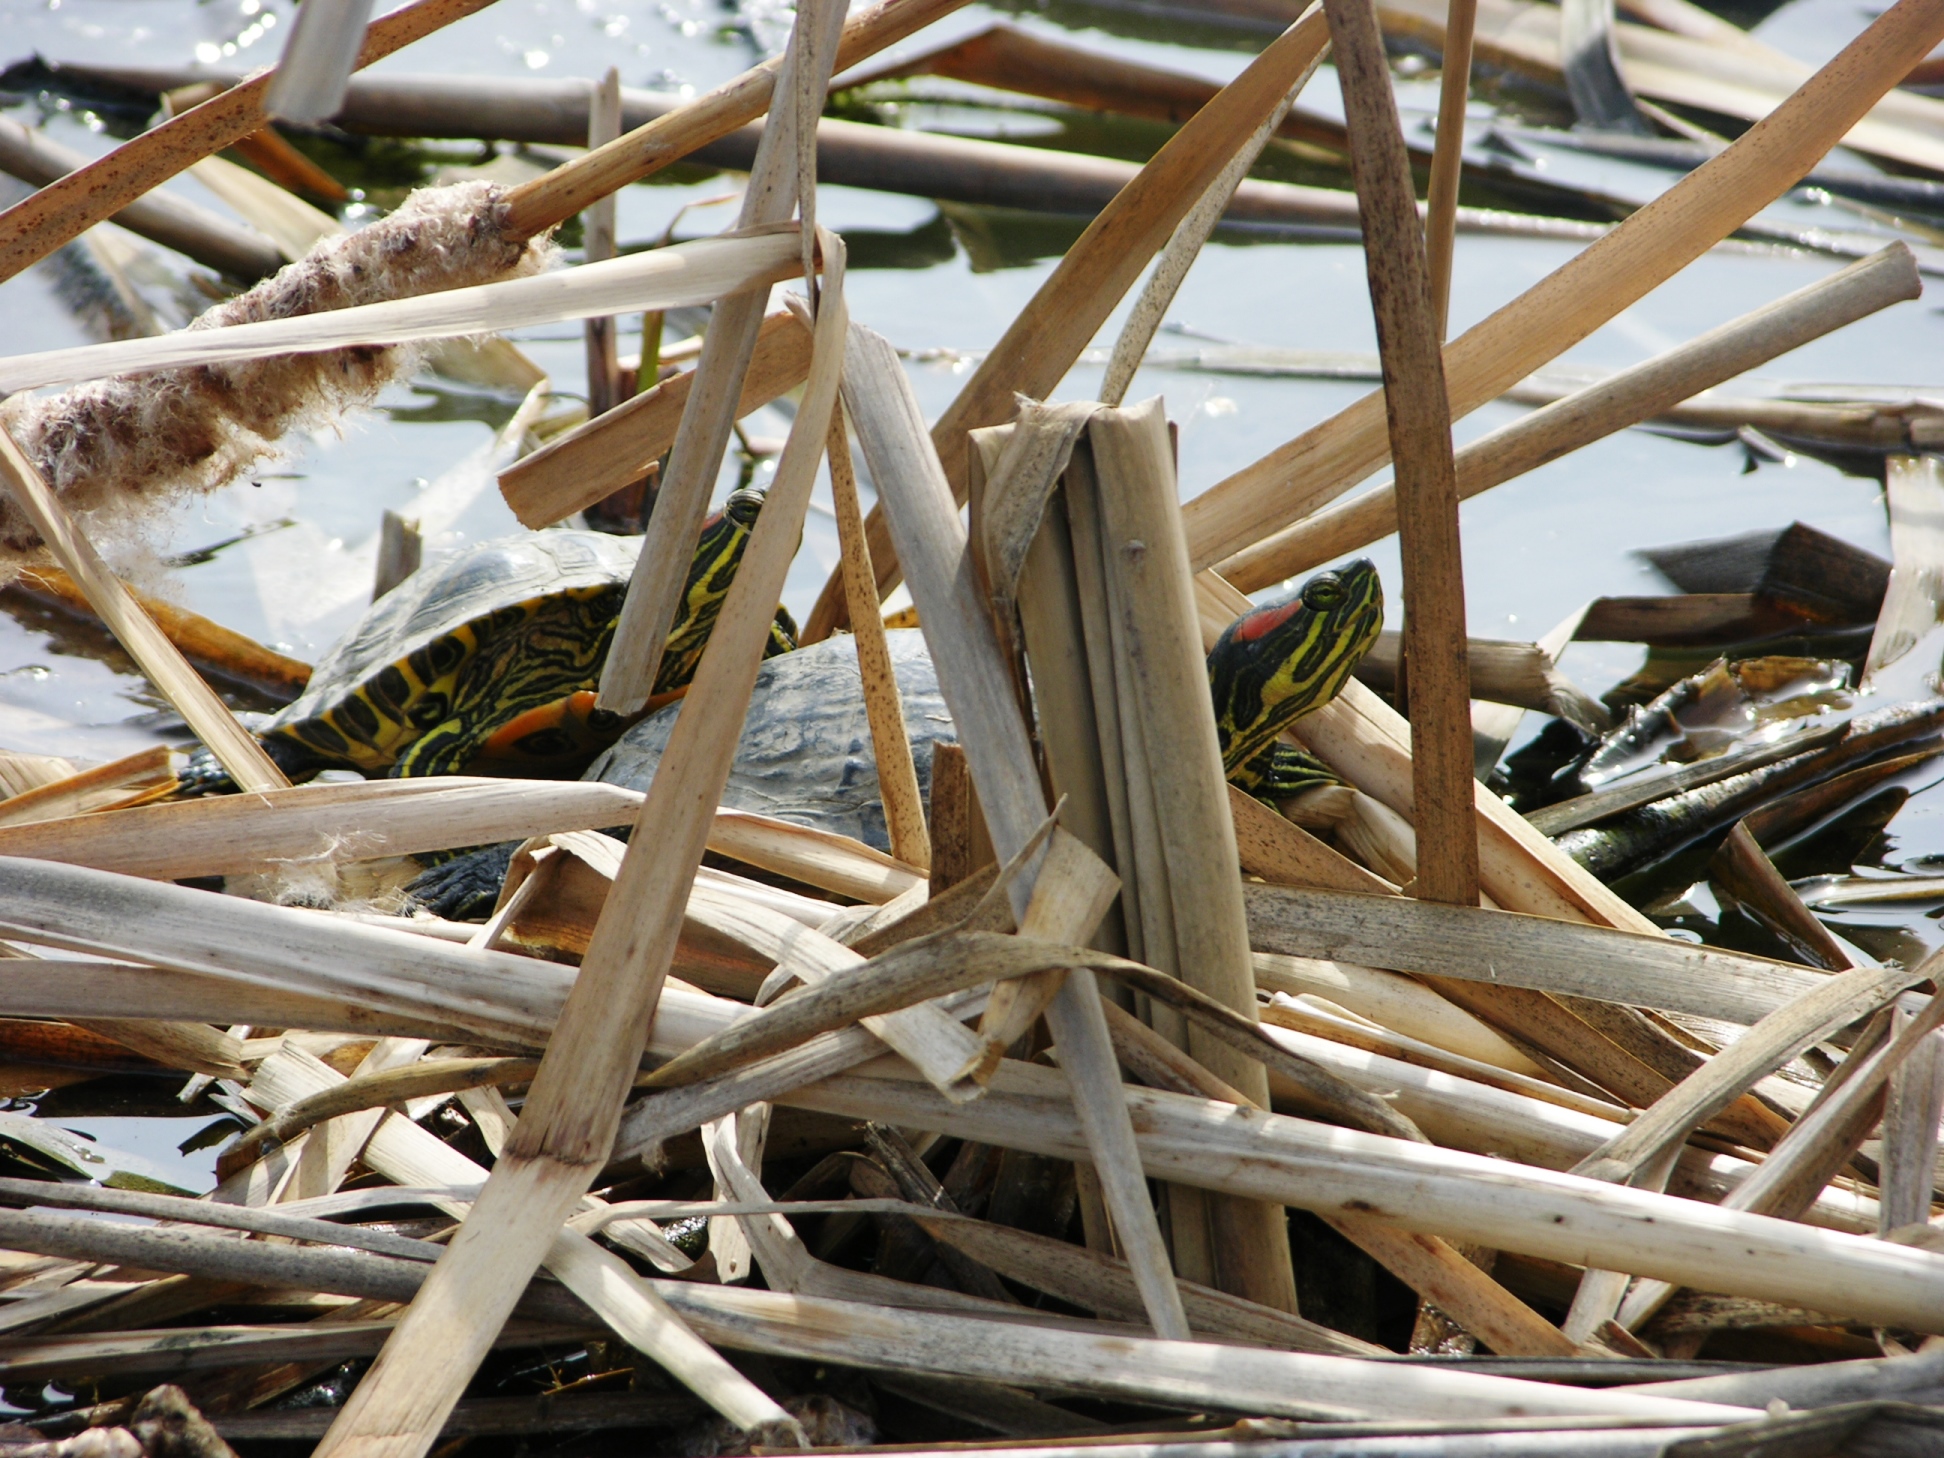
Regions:
<svg viewBox="0 0 1944 1458"><path fill-rule="evenodd" d="M1382 626L1384 585L1369 558L1318 572L1295 597L1231 622L1209 651L1223 764L1248 762L1336 698Z"/></svg>

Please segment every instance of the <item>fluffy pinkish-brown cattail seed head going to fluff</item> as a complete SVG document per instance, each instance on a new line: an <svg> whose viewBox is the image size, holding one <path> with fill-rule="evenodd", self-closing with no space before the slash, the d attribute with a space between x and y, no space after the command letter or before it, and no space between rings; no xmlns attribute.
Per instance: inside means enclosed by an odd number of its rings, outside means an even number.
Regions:
<svg viewBox="0 0 1944 1458"><path fill-rule="evenodd" d="M538 272L544 241L503 235L492 183L424 189L389 218L325 239L191 329L290 319ZM70 511L109 537L128 535L191 492L226 486L280 453L297 428L367 404L418 364L412 346L358 346L229 365L185 365L97 379L47 399L0 402L0 420ZM0 496L0 579L41 537Z"/></svg>

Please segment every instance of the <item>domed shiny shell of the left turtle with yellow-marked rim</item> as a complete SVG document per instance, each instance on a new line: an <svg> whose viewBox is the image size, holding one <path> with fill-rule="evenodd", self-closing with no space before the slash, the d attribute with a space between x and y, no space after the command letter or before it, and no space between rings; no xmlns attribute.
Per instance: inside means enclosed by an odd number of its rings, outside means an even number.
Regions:
<svg viewBox="0 0 1944 1458"><path fill-rule="evenodd" d="M301 698L284 706L264 733L325 750L330 741L342 743L330 721L344 717L348 706L360 719L395 715L402 721L424 708L414 704L422 684L449 675L494 630L517 630L546 601L622 591L640 550L640 537L540 531L428 564L371 605L317 665ZM371 737L391 741L387 733ZM340 758L371 768L362 760L381 766L387 756L369 745L352 745Z"/></svg>

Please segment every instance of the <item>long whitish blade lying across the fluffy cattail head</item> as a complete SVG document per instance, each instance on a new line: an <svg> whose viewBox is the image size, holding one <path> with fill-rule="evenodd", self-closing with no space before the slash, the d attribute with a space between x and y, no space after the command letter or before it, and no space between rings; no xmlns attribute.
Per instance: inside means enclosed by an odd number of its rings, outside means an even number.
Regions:
<svg viewBox="0 0 1944 1458"><path fill-rule="evenodd" d="M255 325L179 329L157 338L87 344L76 350L16 354L12 360L0 360L0 389L39 389L138 369L262 360L272 354L309 354L354 344L492 334L502 329L591 319L626 309L712 303L725 294L789 278L795 255L797 239L791 227L746 237L702 237L628 259L500 284L474 284L416 299L364 303Z"/></svg>

